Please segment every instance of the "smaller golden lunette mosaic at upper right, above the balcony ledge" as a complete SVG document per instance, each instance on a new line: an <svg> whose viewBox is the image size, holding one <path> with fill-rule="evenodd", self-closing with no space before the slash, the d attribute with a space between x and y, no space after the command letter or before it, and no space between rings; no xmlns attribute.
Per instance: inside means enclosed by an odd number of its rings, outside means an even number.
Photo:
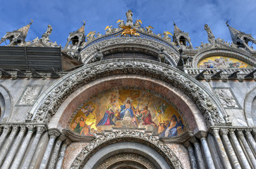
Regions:
<svg viewBox="0 0 256 169"><path fill-rule="evenodd" d="M236 58L224 56L212 56L202 59L197 65L198 68L252 68L251 65L239 61Z"/></svg>

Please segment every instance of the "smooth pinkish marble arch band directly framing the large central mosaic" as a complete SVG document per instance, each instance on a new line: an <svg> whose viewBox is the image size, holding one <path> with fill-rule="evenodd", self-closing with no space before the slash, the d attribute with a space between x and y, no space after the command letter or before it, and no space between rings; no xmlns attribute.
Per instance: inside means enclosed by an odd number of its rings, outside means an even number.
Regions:
<svg viewBox="0 0 256 169"><path fill-rule="evenodd" d="M140 75L108 76L85 84L63 101L63 104L61 104L52 120L50 120L49 127L68 127L70 118L72 115L75 115L74 112L78 111L78 107L81 104L83 105L85 101L89 101L93 96L113 88L138 89L145 92L150 91L151 94L157 94L161 99L164 99L176 108L189 130L193 132L207 130L202 113L200 113L200 110L188 96L166 82Z"/></svg>

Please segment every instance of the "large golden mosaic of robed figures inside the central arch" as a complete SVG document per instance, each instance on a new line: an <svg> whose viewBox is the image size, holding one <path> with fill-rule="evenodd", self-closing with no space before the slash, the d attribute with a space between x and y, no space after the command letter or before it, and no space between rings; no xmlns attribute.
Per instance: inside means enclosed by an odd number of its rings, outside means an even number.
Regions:
<svg viewBox="0 0 256 169"><path fill-rule="evenodd" d="M147 128L159 137L176 137L187 125L176 108L158 96L135 89L98 94L80 106L68 128L80 135L119 128Z"/></svg>

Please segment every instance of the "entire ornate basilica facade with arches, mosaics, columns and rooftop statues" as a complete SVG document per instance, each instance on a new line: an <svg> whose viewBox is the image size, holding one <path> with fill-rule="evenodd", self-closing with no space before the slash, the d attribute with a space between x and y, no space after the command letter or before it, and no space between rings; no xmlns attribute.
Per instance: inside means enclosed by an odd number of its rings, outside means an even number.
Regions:
<svg viewBox="0 0 256 169"><path fill-rule="evenodd" d="M1 38L0 168L256 168L256 40L123 16L64 47L32 22Z"/></svg>

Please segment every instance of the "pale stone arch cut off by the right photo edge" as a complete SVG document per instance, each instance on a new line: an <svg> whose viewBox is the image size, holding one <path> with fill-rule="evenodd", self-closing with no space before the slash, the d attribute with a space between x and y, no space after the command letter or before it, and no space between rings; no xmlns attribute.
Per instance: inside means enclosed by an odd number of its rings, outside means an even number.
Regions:
<svg viewBox="0 0 256 169"><path fill-rule="evenodd" d="M245 96L244 113L245 119L250 127L256 126L256 109L254 108L256 108L256 87L250 90L250 92Z"/></svg>

